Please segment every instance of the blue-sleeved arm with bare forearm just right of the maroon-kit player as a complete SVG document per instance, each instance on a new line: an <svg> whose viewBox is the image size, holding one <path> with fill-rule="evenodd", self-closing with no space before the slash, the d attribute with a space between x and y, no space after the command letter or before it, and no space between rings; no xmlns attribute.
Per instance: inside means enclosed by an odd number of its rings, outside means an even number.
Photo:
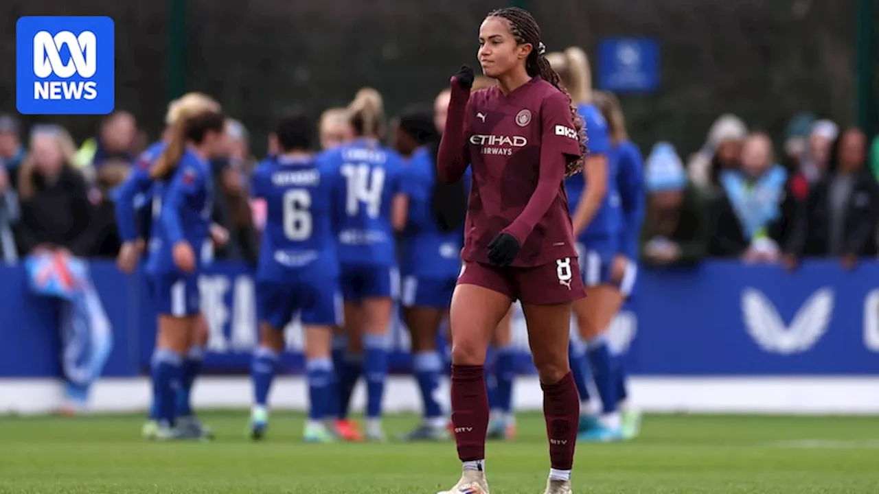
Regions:
<svg viewBox="0 0 879 494"><path fill-rule="evenodd" d="M589 137L589 155L583 163L586 189L570 218L574 227L574 238L583 233L589 222L592 222L607 195L607 152L610 150L607 124L599 121L592 113L584 115L584 123Z"/></svg>

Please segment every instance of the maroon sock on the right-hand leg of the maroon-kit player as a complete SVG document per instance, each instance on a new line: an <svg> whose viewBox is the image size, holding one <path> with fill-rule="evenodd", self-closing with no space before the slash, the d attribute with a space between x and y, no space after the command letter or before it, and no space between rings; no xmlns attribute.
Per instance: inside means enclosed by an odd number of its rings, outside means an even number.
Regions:
<svg viewBox="0 0 879 494"><path fill-rule="evenodd" d="M555 384L544 384L543 417L547 421L549 461L556 470L570 470L574 465L577 425L580 419L580 398L574 374L565 374Z"/></svg>

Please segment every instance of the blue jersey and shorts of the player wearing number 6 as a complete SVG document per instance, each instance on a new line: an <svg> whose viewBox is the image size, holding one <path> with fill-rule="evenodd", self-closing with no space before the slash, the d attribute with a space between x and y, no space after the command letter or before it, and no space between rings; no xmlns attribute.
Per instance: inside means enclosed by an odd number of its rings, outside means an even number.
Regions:
<svg viewBox="0 0 879 494"><path fill-rule="evenodd" d="M265 200L257 268L260 320L283 328L341 323L337 209L343 182L331 163L312 156L273 156L254 172L251 193Z"/></svg>

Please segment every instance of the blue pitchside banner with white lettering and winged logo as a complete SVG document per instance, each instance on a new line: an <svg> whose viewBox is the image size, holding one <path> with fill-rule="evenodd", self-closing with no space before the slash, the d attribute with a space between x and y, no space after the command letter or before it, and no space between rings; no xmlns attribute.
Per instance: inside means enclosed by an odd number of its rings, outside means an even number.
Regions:
<svg viewBox="0 0 879 494"><path fill-rule="evenodd" d="M708 262L692 269L639 272L636 294L609 331L627 353L631 374L834 375L879 374L879 263L852 272L832 261L778 266ZM92 262L91 277L113 326L105 376L144 374L156 322L142 276ZM26 289L21 266L0 266L0 378L61 373L57 302ZM246 374L258 344L255 284L244 265L218 264L200 277L210 336L205 372ZM302 331L285 329L283 367L301 370ZM525 322L517 308L513 344L527 361ZM392 328L392 367L409 368L403 323Z"/></svg>

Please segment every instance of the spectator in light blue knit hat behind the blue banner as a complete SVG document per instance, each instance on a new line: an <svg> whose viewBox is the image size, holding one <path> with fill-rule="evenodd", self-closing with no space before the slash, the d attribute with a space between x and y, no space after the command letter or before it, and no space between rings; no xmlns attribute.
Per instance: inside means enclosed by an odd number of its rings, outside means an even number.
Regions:
<svg viewBox="0 0 879 494"><path fill-rule="evenodd" d="M689 184L672 144L657 142L644 169L647 214L641 257L647 265L694 264L708 253L706 200Z"/></svg>

